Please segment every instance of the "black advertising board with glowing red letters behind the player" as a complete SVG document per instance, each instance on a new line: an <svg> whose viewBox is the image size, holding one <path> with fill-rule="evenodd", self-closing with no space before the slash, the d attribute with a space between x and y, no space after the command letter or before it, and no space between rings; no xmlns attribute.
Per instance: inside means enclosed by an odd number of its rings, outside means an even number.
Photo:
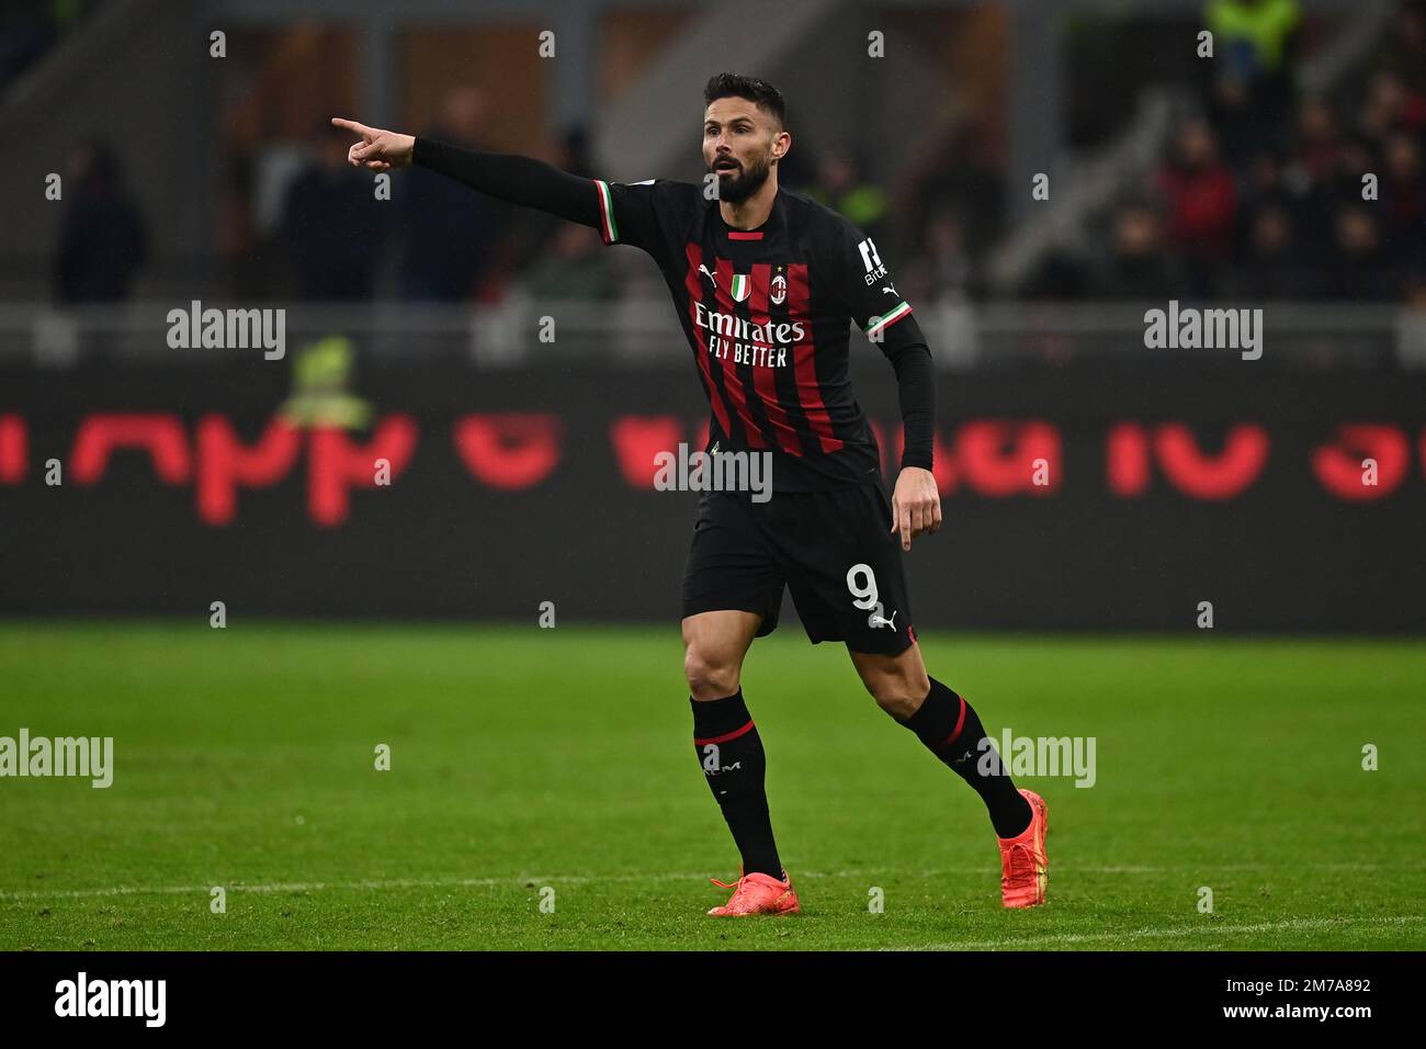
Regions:
<svg viewBox="0 0 1426 1049"><path fill-rule="evenodd" d="M205 522L195 425L220 414L257 441L287 394L287 368L257 361L0 373L0 417L23 418L29 438L23 477L0 482L0 614L187 615L224 601L230 621L523 619L553 601L562 622L677 615L697 497L632 484L612 427L669 417L680 440L697 441L706 408L692 367L649 368L635 382L596 363L362 367L354 387L378 430L392 415L418 428L391 487L358 484L345 520L318 522L304 431L281 480L240 488L234 520ZM1211 601L1215 627L1233 631L1426 628L1422 378L1162 363L1112 373L995 368L943 374L938 385L945 527L907 558L918 625L1192 629L1198 602ZM857 388L881 432L896 435L890 370L864 364ZM181 422L187 478L161 481L135 448L116 448L97 480L77 478L70 457L81 422L113 412ZM555 417L556 465L513 491L478 480L453 440L472 414ZM967 471L967 428L997 421L1052 428L1058 484L998 494L974 464ZM1147 490L1125 495L1108 478L1109 434L1125 422L1149 434L1185 424L1209 461L1233 427L1261 427L1266 462L1239 494L1202 498L1155 460ZM1350 424L1396 428L1409 460L1395 488L1389 455L1340 442L1339 427ZM371 432L347 440L362 447ZM1328 445L1346 462L1380 458L1380 487L1355 492L1372 498L1343 498L1319 478L1313 457ZM1027 451L1005 442L1001 452L1002 470L1030 475ZM883 455L890 462L891 452ZM66 464L60 487L44 484L50 457ZM773 485L776 498L776 472Z"/></svg>

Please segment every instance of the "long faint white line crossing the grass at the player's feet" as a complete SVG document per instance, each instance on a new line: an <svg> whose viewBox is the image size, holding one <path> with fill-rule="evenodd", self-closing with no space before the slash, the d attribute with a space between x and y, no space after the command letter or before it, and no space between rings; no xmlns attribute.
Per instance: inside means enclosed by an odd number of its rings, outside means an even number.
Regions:
<svg viewBox="0 0 1426 1049"><path fill-rule="evenodd" d="M1378 871L1379 863L1185 863L1178 866L1057 866L1057 875L1074 873L1182 873L1208 876L1233 871ZM915 878L935 878L940 875L981 875L988 881L995 879L994 861L983 866L938 868L934 871L880 868L861 871L837 871L824 873L817 871L794 871L793 881L816 878L861 878L870 883L886 879L888 875L910 875ZM501 878L376 878L349 882L274 882L268 885L247 885L242 882L218 882L215 885L114 885L90 889L0 889L0 901L26 899L90 899L103 896L187 896L193 893L208 895L217 885L227 892L327 892L345 891L361 892L366 889L471 889L508 886L520 888L526 883L545 885L590 885L595 882L703 882L707 873L623 873L623 875L505 875Z"/></svg>

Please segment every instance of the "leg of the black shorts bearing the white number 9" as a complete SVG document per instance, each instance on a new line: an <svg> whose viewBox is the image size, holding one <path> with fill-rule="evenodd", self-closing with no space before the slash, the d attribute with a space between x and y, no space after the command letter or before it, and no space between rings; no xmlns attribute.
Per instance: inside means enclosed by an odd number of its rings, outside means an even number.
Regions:
<svg viewBox="0 0 1426 1049"><path fill-rule="evenodd" d="M813 642L898 655L915 644L901 544L881 485L783 494L769 521L797 615Z"/></svg>

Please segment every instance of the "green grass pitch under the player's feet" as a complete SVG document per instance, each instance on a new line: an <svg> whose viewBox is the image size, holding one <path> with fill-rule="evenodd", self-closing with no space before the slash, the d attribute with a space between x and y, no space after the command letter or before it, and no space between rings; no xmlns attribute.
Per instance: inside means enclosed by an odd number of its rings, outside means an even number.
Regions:
<svg viewBox="0 0 1426 1049"><path fill-rule="evenodd" d="M796 622L744 691L803 913L744 922L703 916L737 856L676 625L0 624L0 735L116 765L0 779L0 949L1426 946L1422 641L921 647L997 738L1097 739L1092 788L1022 781L1047 906L1001 909L980 799Z"/></svg>

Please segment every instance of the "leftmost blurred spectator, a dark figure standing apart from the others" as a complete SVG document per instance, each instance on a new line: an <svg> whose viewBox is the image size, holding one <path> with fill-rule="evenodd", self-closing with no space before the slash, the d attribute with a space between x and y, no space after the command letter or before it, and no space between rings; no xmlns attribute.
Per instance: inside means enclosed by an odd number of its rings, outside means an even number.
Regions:
<svg viewBox="0 0 1426 1049"><path fill-rule="evenodd" d="M68 207L60 224L58 300L128 298L134 274L148 260L148 234L108 146L90 143L70 156L64 200Z"/></svg>

